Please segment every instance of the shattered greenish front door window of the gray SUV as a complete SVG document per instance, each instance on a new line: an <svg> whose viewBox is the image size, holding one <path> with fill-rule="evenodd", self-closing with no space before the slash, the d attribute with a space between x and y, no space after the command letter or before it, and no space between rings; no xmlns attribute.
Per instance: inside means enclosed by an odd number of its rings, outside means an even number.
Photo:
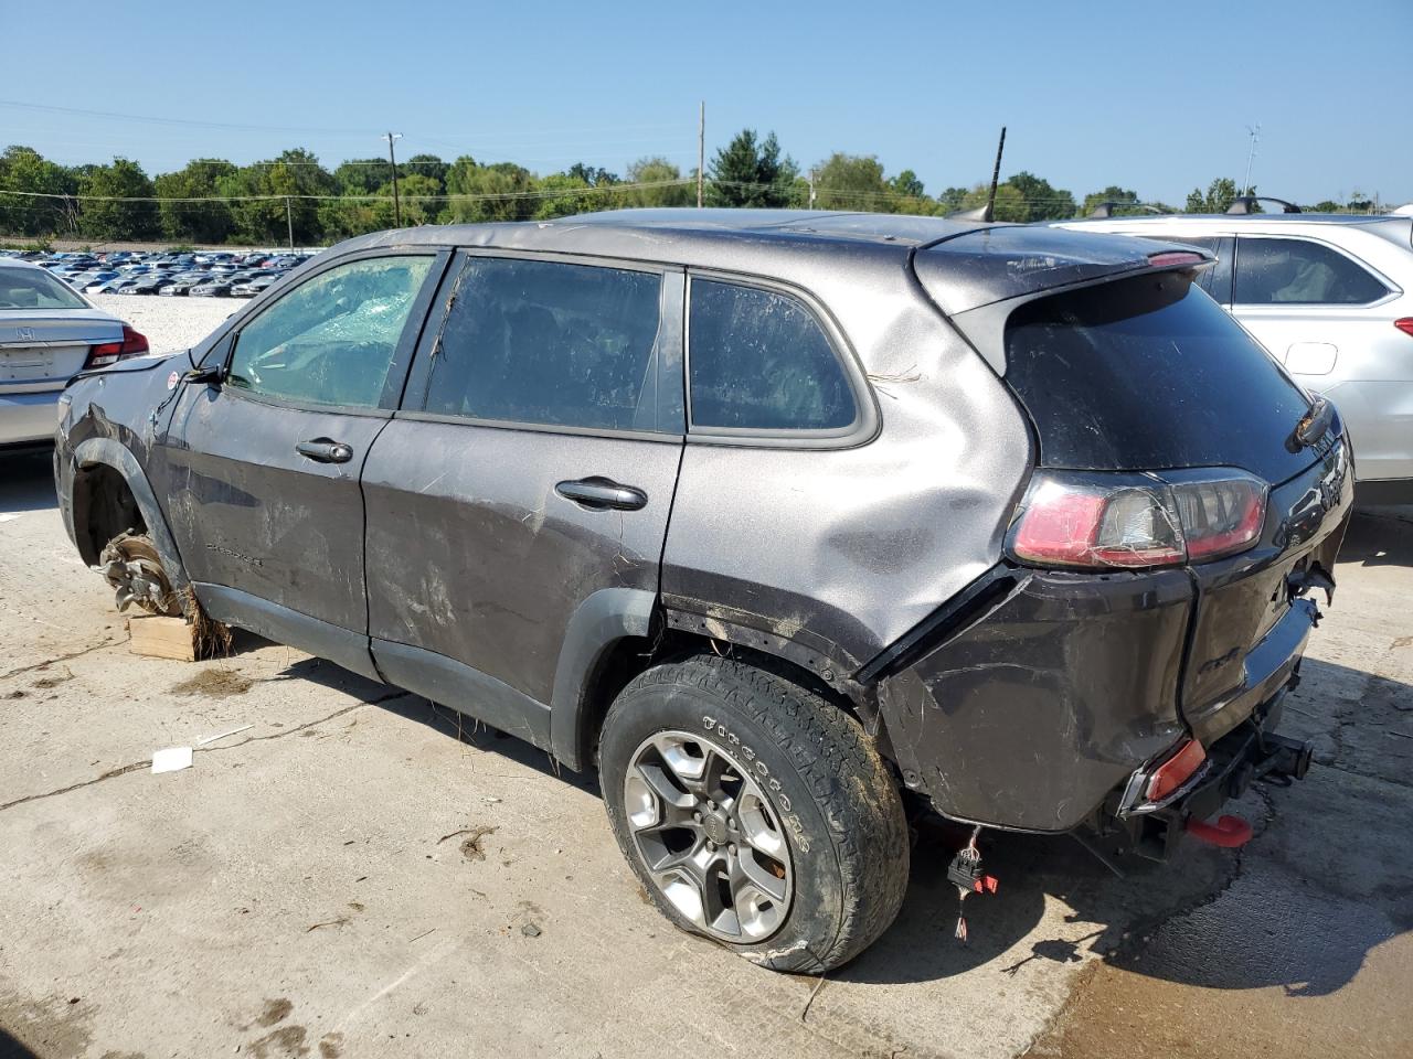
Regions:
<svg viewBox="0 0 1413 1059"><path fill-rule="evenodd" d="M352 261L300 284L242 328L229 383L301 404L376 408L432 258Z"/></svg>

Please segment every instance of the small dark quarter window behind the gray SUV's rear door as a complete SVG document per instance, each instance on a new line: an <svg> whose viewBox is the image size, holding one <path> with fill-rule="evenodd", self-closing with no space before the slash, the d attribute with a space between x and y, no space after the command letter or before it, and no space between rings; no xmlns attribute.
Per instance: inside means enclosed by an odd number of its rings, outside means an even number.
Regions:
<svg viewBox="0 0 1413 1059"><path fill-rule="evenodd" d="M844 367L796 298L692 280L688 328L694 426L825 431L853 422Z"/></svg>

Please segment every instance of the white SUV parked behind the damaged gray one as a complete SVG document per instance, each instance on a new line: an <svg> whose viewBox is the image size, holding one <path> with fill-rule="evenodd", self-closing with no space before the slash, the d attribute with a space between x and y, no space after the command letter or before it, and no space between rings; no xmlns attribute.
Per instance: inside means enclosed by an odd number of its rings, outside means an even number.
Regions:
<svg viewBox="0 0 1413 1059"><path fill-rule="evenodd" d="M1413 217L1169 215L1058 227L1217 254L1202 288L1340 408L1359 500L1413 503Z"/></svg>

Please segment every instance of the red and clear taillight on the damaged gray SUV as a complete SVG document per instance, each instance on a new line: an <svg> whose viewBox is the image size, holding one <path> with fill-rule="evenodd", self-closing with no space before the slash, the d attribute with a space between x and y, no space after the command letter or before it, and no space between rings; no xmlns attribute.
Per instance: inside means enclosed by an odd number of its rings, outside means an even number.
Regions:
<svg viewBox="0 0 1413 1059"><path fill-rule="evenodd" d="M1037 474L1010 554L1040 566L1170 566L1256 542L1266 517L1265 484L1225 469L1181 477Z"/></svg>

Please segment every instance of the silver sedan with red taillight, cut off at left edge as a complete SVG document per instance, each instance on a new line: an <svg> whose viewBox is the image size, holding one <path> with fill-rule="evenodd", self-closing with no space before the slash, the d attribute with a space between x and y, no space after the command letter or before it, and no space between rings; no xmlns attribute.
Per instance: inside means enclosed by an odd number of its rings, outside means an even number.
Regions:
<svg viewBox="0 0 1413 1059"><path fill-rule="evenodd" d="M147 339L18 258L0 258L0 448L49 441L79 371L147 353Z"/></svg>

